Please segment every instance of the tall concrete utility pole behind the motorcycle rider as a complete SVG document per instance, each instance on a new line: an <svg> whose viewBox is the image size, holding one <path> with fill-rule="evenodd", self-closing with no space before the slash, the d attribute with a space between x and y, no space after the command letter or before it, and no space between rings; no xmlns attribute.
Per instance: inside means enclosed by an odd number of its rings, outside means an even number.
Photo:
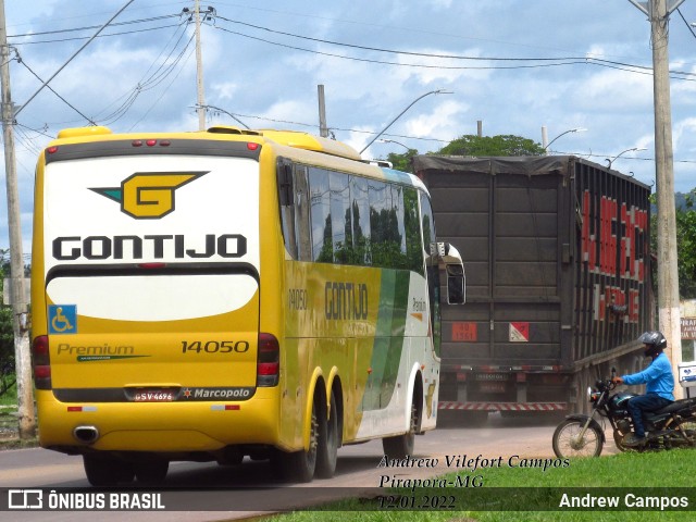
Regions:
<svg viewBox="0 0 696 522"><path fill-rule="evenodd" d="M658 316L660 331L667 338L666 353L672 362L674 382L679 382L678 366L682 362L682 334L676 265L676 211L674 208L674 157L668 42L669 16L685 0L629 1L643 11L650 22L655 96ZM681 386L675 386L675 398L679 399L682 395Z"/></svg>

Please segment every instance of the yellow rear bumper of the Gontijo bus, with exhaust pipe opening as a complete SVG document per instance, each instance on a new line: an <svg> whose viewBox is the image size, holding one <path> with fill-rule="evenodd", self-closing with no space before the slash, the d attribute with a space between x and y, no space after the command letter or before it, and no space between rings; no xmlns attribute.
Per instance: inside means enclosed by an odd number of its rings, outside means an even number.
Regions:
<svg viewBox="0 0 696 522"><path fill-rule="evenodd" d="M76 453L196 452L245 444L277 446L277 400L259 395L244 402L92 405L39 397L39 443L45 448Z"/></svg>

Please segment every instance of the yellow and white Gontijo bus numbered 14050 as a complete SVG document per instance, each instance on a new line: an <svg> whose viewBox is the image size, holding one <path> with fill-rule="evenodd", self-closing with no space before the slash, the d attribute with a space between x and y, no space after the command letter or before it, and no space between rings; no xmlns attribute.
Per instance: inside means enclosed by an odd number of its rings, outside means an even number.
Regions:
<svg viewBox="0 0 696 522"><path fill-rule="evenodd" d="M62 130L32 277L40 444L97 486L245 457L308 482L374 438L405 458L436 424L440 291L464 300L417 177L235 127Z"/></svg>

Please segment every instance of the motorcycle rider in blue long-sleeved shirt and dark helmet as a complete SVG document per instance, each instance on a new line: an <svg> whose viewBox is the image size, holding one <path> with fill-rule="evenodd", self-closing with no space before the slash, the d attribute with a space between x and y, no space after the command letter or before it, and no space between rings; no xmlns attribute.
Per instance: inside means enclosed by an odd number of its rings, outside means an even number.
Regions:
<svg viewBox="0 0 696 522"><path fill-rule="evenodd" d="M644 412L657 411L674 400L674 376L672 365L662 351L667 348L667 339L661 332L645 332L638 341L645 347L645 357L652 358L652 362L642 372L621 375L612 378L618 384L645 384L645 395L629 399L629 413L633 419L634 432L624 438L623 445L629 447L645 444Z"/></svg>

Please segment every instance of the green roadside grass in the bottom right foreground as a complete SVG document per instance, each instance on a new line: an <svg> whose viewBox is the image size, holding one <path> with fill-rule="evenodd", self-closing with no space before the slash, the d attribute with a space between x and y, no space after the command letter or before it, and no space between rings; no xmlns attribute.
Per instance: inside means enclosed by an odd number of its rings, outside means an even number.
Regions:
<svg viewBox="0 0 696 522"><path fill-rule="evenodd" d="M626 494L641 496L676 496L688 495L689 509L696 509L696 492L692 488L694 476L694 463L696 453L689 449L661 451L652 453L620 453L599 459L574 459L567 468L547 469L502 467L500 469L486 469L483 475L484 485L474 490L461 488L453 490L459 498L468 502L477 495L484 495L490 499L506 505L506 509L515 509L520 506L544 506L556 508L560 495L583 497L587 493L592 496L618 496L623 499ZM467 474L460 472L461 475ZM472 474L472 473L469 473ZM477 474L477 472L476 472ZM445 475L449 480L456 473ZM582 489L573 489L582 488ZM591 488L591 489L588 489ZM621 488L612 490L611 488ZM646 489L642 489L646 488ZM549 493L551 492L551 493ZM694 493L692 493L694 492ZM388 490L384 492L385 494ZM406 497L409 493L402 492ZM417 489L417 496L426 494L427 490ZM438 489L437 493L442 493ZM469 496L469 497L468 497ZM534 504L539 501L540 504ZM633 500L632 500L633 501ZM471 504L470 504L471 505ZM611 511L595 508L594 510L572 511L558 508L558 511L406 511L380 509L373 501L372 510L363 510L365 500L349 499L332 504L321 511L298 511L273 517L273 522L332 522L363 521L431 521L431 522L498 522L498 521L577 521L577 522L605 522L625 520L635 521L670 521L691 518L689 512L632 510ZM498 508L499 509L499 508Z"/></svg>

